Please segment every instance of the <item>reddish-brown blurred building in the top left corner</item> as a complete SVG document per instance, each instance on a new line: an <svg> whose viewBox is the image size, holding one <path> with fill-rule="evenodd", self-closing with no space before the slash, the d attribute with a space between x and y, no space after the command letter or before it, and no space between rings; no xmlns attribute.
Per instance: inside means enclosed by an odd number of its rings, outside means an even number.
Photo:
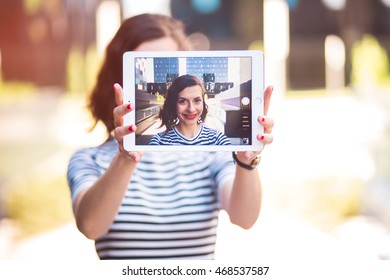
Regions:
<svg viewBox="0 0 390 280"><path fill-rule="evenodd" d="M98 2L0 0L2 78L64 86L71 48L95 42Z"/></svg>

